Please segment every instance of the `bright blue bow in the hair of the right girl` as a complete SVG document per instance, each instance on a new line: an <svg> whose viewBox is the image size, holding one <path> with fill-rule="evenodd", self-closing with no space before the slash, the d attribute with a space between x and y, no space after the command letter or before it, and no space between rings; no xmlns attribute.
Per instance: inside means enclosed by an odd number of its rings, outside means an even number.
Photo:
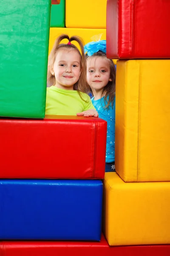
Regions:
<svg viewBox="0 0 170 256"><path fill-rule="evenodd" d="M93 55L96 52L102 51L106 53L106 40L100 40L97 42L90 42L85 45L84 47L85 53L87 53L88 56Z"/></svg>

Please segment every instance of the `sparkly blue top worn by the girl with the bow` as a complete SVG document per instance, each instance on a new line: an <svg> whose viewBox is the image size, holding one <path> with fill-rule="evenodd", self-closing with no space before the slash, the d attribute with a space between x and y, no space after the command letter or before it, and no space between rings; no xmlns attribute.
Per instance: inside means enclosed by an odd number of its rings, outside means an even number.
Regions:
<svg viewBox="0 0 170 256"><path fill-rule="evenodd" d="M91 99L96 111L99 113L99 117L107 121L107 143L106 143L106 169L110 164L110 171L115 171L114 161L115 161L115 98L113 102L113 108L111 103L109 108L105 107L104 97L101 99L94 100ZM107 103L106 103L107 104ZM107 170L106 170L107 171Z"/></svg>

